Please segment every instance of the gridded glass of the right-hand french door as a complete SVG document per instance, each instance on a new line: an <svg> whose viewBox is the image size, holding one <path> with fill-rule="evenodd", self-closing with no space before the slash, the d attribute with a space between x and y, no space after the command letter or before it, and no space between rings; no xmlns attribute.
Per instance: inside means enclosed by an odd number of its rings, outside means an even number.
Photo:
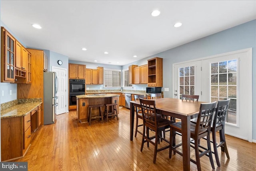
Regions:
<svg viewBox="0 0 256 171"><path fill-rule="evenodd" d="M230 99L226 122L236 124L237 60L215 62L211 66L211 102Z"/></svg>

